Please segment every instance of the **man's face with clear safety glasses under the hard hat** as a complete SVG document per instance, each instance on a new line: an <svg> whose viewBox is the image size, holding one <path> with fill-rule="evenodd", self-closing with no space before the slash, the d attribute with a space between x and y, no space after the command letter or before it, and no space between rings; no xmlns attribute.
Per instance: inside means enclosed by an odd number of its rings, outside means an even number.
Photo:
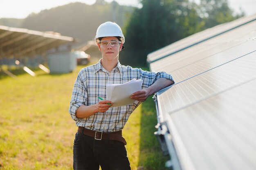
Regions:
<svg viewBox="0 0 256 170"><path fill-rule="evenodd" d="M98 43L102 57L107 60L118 60L119 51L122 49L122 43L116 37L104 37Z"/></svg>

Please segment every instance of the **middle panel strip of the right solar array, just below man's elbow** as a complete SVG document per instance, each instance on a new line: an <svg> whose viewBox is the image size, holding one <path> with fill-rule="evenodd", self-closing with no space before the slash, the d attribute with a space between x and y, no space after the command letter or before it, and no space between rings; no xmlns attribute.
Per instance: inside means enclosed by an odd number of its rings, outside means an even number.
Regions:
<svg viewBox="0 0 256 170"><path fill-rule="evenodd" d="M171 114L255 77L256 51L158 92L158 107Z"/></svg>

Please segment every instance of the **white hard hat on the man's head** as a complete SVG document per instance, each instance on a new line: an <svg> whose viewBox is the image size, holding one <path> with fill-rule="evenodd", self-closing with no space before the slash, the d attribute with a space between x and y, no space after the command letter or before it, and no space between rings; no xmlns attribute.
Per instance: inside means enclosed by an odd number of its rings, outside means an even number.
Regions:
<svg viewBox="0 0 256 170"><path fill-rule="evenodd" d="M95 42L100 37L121 37L121 42L124 44L124 34L122 33L121 28L115 22L105 22L101 24L96 32Z"/></svg>

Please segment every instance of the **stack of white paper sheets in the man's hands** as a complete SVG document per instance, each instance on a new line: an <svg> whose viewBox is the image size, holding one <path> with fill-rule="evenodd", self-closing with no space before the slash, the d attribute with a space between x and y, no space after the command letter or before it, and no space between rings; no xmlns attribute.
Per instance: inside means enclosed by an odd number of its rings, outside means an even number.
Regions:
<svg viewBox="0 0 256 170"><path fill-rule="evenodd" d="M132 100L130 96L132 93L141 90L141 85L142 80L136 80L135 78L124 84L107 84L107 100L114 103L111 107L132 105L135 100Z"/></svg>

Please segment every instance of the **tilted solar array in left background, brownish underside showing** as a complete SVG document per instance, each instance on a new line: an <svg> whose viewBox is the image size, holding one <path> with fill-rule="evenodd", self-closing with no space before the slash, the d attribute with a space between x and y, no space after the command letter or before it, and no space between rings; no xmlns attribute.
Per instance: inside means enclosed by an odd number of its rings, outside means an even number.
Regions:
<svg viewBox="0 0 256 170"><path fill-rule="evenodd" d="M0 58L34 56L70 42L74 42L74 38L59 33L0 25Z"/></svg>

